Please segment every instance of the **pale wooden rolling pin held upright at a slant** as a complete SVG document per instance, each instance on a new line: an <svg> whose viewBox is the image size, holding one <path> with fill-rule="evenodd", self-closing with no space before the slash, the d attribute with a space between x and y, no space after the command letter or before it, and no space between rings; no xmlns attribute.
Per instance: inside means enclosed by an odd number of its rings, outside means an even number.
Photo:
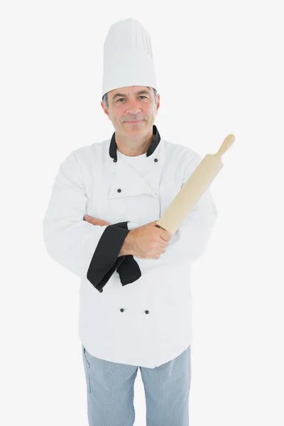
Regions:
<svg viewBox="0 0 284 426"><path fill-rule="evenodd" d="M222 155L234 143L235 137L230 134L224 138L222 146L216 154L207 154L182 186L170 205L165 209L155 226L175 234L182 221L190 213L192 207L200 200L223 167Z"/></svg>

